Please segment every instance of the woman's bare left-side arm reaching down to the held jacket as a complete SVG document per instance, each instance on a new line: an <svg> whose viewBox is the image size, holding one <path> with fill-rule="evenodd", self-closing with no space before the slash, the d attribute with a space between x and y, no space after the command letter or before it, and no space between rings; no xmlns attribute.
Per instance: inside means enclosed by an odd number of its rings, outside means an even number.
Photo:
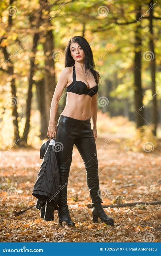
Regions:
<svg viewBox="0 0 161 256"><path fill-rule="evenodd" d="M58 109L58 103L60 100L60 97L62 95L62 92L65 88L65 86L68 83L68 74L69 74L69 68L65 67L62 69L60 73L59 80L57 82L57 85L55 87L55 92L51 101L51 107L50 107L50 121L49 121L49 127L47 135L50 137L50 140L52 137L55 136L55 132L57 129L57 125L55 125L55 116Z"/></svg>

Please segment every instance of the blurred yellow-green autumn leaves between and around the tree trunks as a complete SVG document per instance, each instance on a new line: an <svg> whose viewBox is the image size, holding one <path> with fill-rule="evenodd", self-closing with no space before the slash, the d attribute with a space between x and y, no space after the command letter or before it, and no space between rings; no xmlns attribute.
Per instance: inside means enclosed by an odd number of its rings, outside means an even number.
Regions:
<svg viewBox="0 0 161 256"><path fill-rule="evenodd" d="M48 10L42 11L42 20L37 24L38 14L41 5L38 0L34 1L14 1L13 6L15 14L10 16L12 25L9 25L8 15L8 1L1 1L0 4L0 22L1 32L0 36L4 37L0 44L0 75L1 75L1 98L0 108L2 109L1 127L4 131L6 123L12 123L11 106L6 105L7 98L10 97L11 80L13 77L8 75L8 68L13 64L14 79L17 89L17 108L18 108L18 121L20 134L24 128L24 113L26 109L26 99L29 88L30 76L30 60L34 57L32 52L33 36L36 32L40 32L40 37L37 45L37 52L35 54L34 66L34 81L39 81L44 78L44 70L48 67L45 66L45 58L43 46L46 42L45 33L47 30L52 30L54 35L53 52L60 51L63 58L58 62L55 61L55 74L58 79L60 71L64 68L65 63L65 48L72 36L82 35L83 29L84 37L90 43L96 70L100 72L102 84L100 86L101 94L107 95L107 82L111 82L112 90L108 94L114 101L111 103L113 110L120 109L120 113L124 113L124 103L129 99L129 108L134 111L133 93L134 93L134 80L133 66L134 51L142 50L142 57L145 51L149 50L149 21L142 19L141 28L137 31L142 35L142 46L134 48L135 44L135 29L137 24L131 23L128 25L117 25L119 23L126 23L135 21L136 13L140 1L133 3L132 0L126 1L73 1L65 2L52 0L47 1ZM148 1L142 4L142 13L148 10ZM100 11L100 7L105 6ZM107 15L106 15L107 14ZM159 17L159 6L154 8L154 15ZM51 24L50 24L51 22ZM160 51L159 51L159 31L160 25L157 19L154 20L154 38L155 38L155 58L156 70L160 64ZM3 54L2 47L6 47L10 60L6 62ZM53 61L54 66L54 61ZM149 71L149 62L142 58L142 81L143 88L145 89L143 102L149 100L151 91L151 77ZM157 92L160 90L159 85L160 77L159 72L156 73L156 87ZM36 98L36 89L33 91L33 97ZM158 94L158 99L160 98ZM122 101L120 101L122 100ZM148 106L150 107L150 105ZM38 109L37 102L32 104L32 114ZM4 110L4 112L3 112ZM10 113L10 114L8 114ZM118 118L119 119L119 118ZM33 118L32 118L33 120ZM39 120L38 120L39 122ZM32 123L33 126L33 123ZM38 124L38 127L40 123ZM34 127L34 126L33 126ZM6 134L13 135L13 127L10 124L7 128ZM33 128L34 129L34 128ZM100 131L101 131L100 126ZM131 128L133 129L133 127ZM111 127L115 132L117 126ZM35 133L36 134L36 131ZM3 136L2 136L3 137ZM2 140L5 144L5 140ZM32 139L30 139L32 143ZM1 145L2 146L2 145ZM7 146L7 144L6 144Z"/></svg>

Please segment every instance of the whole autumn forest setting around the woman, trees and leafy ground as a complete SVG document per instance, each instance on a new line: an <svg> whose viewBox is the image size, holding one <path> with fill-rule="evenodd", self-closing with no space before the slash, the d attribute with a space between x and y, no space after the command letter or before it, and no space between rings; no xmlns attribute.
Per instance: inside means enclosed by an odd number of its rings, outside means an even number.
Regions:
<svg viewBox="0 0 161 256"><path fill-rule="evenodd" d="M159 242L159 1L4 0L0 9L1 241ZM101 75L96 147L113 227L92 223L75 145L68 203L76 226L59 227L57 211L54 221L43 221L32 196L65 48L76 35L89 42ZM65 103L64 91L57 119Z"/></svg>

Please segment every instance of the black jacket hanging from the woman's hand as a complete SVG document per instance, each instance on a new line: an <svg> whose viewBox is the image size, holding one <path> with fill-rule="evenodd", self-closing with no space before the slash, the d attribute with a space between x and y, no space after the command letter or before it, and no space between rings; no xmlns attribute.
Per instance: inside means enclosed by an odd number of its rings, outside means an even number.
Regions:
<svg viewBox="0 0 161 256"><path fill-rule="evenodd" d="M54 220L54 210L58 210L60 175L56 140L51 139L41 145L40 159L43 162L35 182L32 195L37 198L36 208L41 211L40 218L46 221Z"/></svg>

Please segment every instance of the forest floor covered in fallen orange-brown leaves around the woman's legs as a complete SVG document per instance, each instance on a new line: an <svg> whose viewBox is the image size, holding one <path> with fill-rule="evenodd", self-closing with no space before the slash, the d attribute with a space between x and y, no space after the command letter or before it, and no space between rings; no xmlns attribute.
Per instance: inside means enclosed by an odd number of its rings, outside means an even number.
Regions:
<svg viewBox="0 0 161 256"><path fill-rule="evenodd" d="M160 151L133 152L120 147L123 138L105 140L103 135L96 139L97 150L104 145L97 153L102 205L117 196L124 203L159 201ZM1 242L160 242L160 205L104 208L114 226L92 223L85 167L75 146L68 183L75 226L59 227L56 210L54 221L44 221L35 206L16 217L14 211L36 204L31 193L41 163L37 149L1 151Z"/></svg>

